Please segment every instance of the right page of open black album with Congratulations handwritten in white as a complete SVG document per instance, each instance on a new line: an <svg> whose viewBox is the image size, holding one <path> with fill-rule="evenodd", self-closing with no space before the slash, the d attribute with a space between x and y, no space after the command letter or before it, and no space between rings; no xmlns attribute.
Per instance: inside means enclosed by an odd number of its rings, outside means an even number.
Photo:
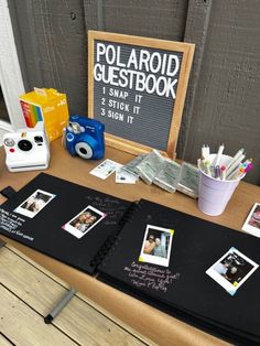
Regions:
<svg viewBox="0 0 260 346"><path fill-rule="evenodd" d="M260 342L260 239L141 199L98 279L212 334Z"/></svg>

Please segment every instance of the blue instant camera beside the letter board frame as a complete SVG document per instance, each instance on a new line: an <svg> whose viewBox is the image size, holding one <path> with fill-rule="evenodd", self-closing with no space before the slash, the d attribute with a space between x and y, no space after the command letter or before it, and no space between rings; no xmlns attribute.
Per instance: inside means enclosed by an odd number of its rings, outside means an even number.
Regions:
<svg viewBox="0 0 260 346"><path fill-rule="evenodd" d="M75 156L99 160L105 154L105 126L95 119L71 116L66 128L66 148Z"/></svg>

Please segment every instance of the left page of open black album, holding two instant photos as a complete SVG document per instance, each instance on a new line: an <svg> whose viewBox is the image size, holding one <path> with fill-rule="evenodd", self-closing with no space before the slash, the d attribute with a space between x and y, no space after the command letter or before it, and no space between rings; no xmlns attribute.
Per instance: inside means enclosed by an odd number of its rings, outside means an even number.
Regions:
<svg viewBox="0 0 260 346"><path fill-rule="evenodd" d="M40 173L0 206L0 234L87 273L131 203Z"/></svg>

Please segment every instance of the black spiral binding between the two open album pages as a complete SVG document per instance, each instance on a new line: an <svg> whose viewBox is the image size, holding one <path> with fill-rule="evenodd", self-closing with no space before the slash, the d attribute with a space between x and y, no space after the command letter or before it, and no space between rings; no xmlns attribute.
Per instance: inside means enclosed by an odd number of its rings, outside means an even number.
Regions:
<svg viewBox="0 0 260 346"><path fill-rule="evenodd" d="M130 207L126 210L120 221L118 223L118 229L112 235L108 236L108 238L105 240L102 246L99 248L98 252L95 255L95 257L90 261L90 267L97 268L99 264L101 264L105 257L107 257L109 253L113 251L113 249L118 245L118 241L120 240L119 234L122 227L133 219L133 214L140 208L141 208L140 202L133 202L130 205Z"/></svg>

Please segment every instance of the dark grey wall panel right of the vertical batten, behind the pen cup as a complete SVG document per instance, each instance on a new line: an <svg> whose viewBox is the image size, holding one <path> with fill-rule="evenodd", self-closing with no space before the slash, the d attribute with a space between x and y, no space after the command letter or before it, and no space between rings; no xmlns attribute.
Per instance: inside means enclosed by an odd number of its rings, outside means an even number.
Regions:
<svg viewBox="0 0 260 346"><path fill-rule="evenodd" d="M206 0L208 2L208 0ZM204 56L186 136L185 160L202 142L254 159L247 181L260 184L260 2L212 1ZM196 24L194 23L196 28ZM194 28L194 29L195 29Z"/></svg>

